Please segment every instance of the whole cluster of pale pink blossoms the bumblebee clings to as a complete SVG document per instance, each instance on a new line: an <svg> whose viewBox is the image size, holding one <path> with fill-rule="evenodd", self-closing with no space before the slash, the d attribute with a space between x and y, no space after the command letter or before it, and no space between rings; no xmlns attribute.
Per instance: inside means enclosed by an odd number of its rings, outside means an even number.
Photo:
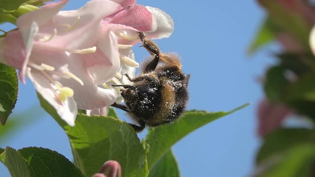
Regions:
<svg viewBox="0 0 315 177"><path fill-rule="evenodd" d="M135 0L91 0L78 10L60 11L67 2L19 17L18 30L0 40L0 62L19 69L23 83L28 76L73 126L77 109L102 113L116 101L117 90L106 83L129 82L122 74L134 75L139 64L131 47L140 41L137 31L168 37L173 21L159 9L135 5Z"/></svg>

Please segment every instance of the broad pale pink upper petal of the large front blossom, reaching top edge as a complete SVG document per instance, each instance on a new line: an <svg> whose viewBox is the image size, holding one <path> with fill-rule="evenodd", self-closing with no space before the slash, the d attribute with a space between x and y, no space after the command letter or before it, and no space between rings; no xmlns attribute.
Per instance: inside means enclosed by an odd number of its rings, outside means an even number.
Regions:
<svg viewBox="0 0 315 177"><path fill-rule="evenodd" d="M80 17L76 26L67 31L64 27L58 27L57 35L47 42L38 42L43 47L71 51L93 47L102 30L102 19L121 9L121 5L111 0L91 0L78 9L71 11L61 11L55 18L54 23L49 23L40 28L41 35L51 35L55 24L72 25ZM97 13L95 13L95 11Z"/></svg>

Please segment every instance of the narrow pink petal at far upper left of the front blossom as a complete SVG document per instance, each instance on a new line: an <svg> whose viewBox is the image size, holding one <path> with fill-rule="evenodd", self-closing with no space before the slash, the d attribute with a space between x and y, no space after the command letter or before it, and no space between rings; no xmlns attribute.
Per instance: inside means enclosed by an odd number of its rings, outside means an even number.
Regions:
<svg viewBox="0 0 315 177"><path fill-rule="evenodd" d="M28 28L32 22L36 22L38 26L46 24L51 20L68 2L69 0L60 0L59 2L53 2L43 5L37 10L23 14L16 20L16 25L20 30Z"/></svg>

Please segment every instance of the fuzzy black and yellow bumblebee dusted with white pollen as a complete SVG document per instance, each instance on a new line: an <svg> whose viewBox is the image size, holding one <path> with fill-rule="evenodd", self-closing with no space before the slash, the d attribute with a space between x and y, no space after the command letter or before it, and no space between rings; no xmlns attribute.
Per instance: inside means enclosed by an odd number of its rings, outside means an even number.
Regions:
<svg viewBox="0 0 315 177"><path fill-rule="evenodd" d="M146 125L154 127L170 123L181 116L188 103L190 75L182 72L177 55L161 53L144 32L138 32L138 35L151 58L141 63L139 76L130 78L125 74L132 85L112 85L124 88L120 92L126 104L114 103L112 106L126 111L134 121L128 124L136 132L141 132Z"/></svg>

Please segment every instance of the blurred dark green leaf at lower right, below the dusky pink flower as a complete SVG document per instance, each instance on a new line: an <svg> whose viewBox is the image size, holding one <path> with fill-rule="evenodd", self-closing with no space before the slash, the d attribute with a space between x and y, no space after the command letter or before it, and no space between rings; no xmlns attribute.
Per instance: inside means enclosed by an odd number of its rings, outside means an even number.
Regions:
<svg viewBox="0 0 315 177"><path fill-rule="evenodd" d="M268 157L281 153L299 144L313 143L315 145L315 131L306 128L282 128L264 138L264 144L257 153L256 163L259 164Z"/></svg>

